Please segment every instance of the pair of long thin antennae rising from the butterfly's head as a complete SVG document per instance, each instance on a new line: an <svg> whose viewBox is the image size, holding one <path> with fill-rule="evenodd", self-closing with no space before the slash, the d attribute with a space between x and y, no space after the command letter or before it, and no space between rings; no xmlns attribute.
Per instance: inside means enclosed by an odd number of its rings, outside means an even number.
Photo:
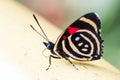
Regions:
<svg viewBox="0 0 120 80"><path fill-rule="evenodd" d="M33 17L34 17L35 21L37 22L37 24L38 24L38 26L39 26L39 28L40 28L40 30L42 31L42 33L43 33L44 36L41 35L32 25L30 25L30 27L31 27L36 33L38 33L41 37L43 37L46 41L49 42L48 37L46 36L44 30L42 29L41 25L39 24L39 22L38 22L38 20L37 20L37 18L36 18L36 16L35 16L34 14L33 14Z"/></svg>

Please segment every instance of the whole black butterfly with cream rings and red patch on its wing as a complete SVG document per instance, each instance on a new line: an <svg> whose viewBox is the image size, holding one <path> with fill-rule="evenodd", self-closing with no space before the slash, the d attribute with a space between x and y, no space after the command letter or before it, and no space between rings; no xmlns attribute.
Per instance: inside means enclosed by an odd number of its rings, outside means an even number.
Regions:
<svg viewBox="0 0 120 80"><path fill-rule="evenodd" d="M77 61L92 61L102 57L101 22L97 13L88 13L78 18L60 34L55 43L49 41L34 14L33 17L44 35L41 35L32 25L31 28L47 41L43 44L52 53L46 70L51 66L51 58L64 58L75 67L70 58Z"/></svg>

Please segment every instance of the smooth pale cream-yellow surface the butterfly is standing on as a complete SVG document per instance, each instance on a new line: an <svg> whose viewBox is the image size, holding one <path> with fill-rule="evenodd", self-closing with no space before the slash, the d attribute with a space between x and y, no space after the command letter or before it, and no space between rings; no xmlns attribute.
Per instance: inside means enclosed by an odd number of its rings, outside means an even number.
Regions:
<svg viewBox="0 0 120 80"><path fill-rule="evenodd" d="M44 39L31 28L39 30L32 17L34 12L12 0L0 1L0 80L120 80L120 71L104 59L75 62L79 70L64 59L52 59L48 71L48 56ZM36 15L51 41L59 29ZM39 30L40 31L40 30Z"/></svg>

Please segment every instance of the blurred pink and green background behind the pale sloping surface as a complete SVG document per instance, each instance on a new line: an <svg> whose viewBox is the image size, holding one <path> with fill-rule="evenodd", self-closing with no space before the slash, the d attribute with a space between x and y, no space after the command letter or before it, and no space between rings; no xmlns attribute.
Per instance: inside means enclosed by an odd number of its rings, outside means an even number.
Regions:
<svg viewBox="0 0 120 80"><path fill-rule="evenodd" d="M103 57L120 69L120 0L17 0L61 29L80 16L96 12L101 18ZM101 64L102 65L102 64Z"/></svg>

